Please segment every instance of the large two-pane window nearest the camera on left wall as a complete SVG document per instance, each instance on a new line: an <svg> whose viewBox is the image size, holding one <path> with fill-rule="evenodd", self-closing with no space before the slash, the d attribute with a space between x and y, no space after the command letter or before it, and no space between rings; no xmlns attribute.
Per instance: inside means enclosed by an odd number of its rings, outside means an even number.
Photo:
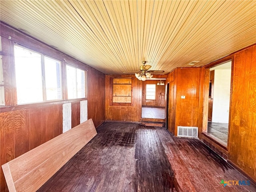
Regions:
<svg viewBox="0 0 256 192"><path fill-rule="evenodd" d="M62 99L60 61L14 45L17 104Z"/></svg>

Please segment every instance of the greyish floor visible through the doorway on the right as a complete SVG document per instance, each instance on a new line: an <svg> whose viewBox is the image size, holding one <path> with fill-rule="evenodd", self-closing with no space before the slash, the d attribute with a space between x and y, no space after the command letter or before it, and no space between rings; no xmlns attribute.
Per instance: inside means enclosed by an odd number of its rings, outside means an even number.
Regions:
<svg viewBox="0 0 256 192"><path fill-rule="evenodd" d="M225 143L228 142L228 123L208 122L207 132Z"/></svg>

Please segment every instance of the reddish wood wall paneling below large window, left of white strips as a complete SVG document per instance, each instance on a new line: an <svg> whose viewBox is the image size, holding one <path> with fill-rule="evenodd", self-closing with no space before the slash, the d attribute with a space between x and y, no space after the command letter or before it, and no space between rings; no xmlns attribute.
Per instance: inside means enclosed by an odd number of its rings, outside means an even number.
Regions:
<svg viewBox="0 0 256 192"><path fill-rule="evenodd" d="M62 133L62 104L0 113L0 164ZM5 191L0 172L1 192Z"/></svg>

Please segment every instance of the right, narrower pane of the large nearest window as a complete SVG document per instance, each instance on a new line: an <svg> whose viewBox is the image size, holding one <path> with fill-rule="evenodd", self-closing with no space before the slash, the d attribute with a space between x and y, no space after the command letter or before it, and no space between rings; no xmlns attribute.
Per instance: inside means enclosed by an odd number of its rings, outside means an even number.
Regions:
<svg viewBox="0 0 256 192"><path fill-rule="evenodd" d="M60 82L60 62L52 58L44 57L46 100L62 98Z"/></svg>

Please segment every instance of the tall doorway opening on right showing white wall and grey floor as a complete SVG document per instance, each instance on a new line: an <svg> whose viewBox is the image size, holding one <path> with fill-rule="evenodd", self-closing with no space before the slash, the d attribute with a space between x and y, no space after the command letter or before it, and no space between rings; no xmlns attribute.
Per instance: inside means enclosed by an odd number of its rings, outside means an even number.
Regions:
<svg viewBox="0 0 256 192"><path fill-rule="evenodd" d="M210 68L207 133L227 146L232 61Z"/></svg>

